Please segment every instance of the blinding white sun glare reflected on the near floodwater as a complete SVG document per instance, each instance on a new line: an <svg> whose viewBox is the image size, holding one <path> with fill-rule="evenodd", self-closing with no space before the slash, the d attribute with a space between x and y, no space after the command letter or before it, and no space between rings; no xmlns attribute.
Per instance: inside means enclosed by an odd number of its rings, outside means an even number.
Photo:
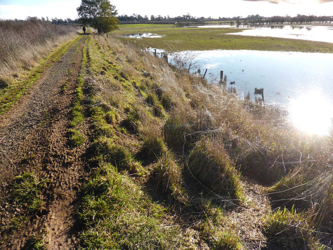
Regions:
<svg viewBox="0 0 333 250"><path fill-rule="evenodd" d="M328 135L333 126L333 104L317 90L292 99L289 115L294 126L308 134Z"/></svg>

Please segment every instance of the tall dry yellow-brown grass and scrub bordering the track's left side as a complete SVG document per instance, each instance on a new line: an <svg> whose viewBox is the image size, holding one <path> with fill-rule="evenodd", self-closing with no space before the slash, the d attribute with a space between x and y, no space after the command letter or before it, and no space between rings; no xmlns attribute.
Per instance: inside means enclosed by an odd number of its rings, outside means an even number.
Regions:
<svg viewBox="0 0 333 250"><path fill-rule="evenodd" d="M0 20L0 78L18 77L77 31L74 25L56 26L36 18Z"/></svg>

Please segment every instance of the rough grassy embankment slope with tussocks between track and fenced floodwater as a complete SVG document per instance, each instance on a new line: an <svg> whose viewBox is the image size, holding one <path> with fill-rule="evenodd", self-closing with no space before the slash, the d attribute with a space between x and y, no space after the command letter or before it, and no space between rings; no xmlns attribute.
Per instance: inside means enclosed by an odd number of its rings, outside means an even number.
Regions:
<svg viewBox="0 0 333 250"><path fill-rule="evenodd" d="M328 239L330 138L276 125L269 108L118 41L93 36L88 52L82 247L318 249ZM256 182L269 188L253 193Z"/></svg>

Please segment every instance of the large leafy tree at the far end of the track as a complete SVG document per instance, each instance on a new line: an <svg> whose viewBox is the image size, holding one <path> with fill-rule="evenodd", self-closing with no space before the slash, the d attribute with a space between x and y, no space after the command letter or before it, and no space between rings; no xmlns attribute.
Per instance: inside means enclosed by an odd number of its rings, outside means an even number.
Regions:
<svg viewBox="0 0 333 250"><path fill-rule="evenodd" d="M98 34L117 29L116 7L109 0L81 0L76 9L82 23L90 24Z"/></svg>

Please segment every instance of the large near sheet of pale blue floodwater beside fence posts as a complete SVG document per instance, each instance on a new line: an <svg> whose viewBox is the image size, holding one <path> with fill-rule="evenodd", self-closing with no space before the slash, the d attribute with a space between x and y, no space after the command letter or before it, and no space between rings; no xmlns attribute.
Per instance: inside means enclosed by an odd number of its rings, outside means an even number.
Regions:
<svg viewBox="0 0 333 250"><path fill-rule="evenodd" d="M227 88L236 87L241 99L248 92L254 99L255 88L264 88L266 104L285 108L303 131L327 134L332 128L333 54L249 50L178 53L196 54L193 64L197 66L192 73L200 69L203 75L207 69L206 79L212 82L219 81L223 70Z"/></svg>

